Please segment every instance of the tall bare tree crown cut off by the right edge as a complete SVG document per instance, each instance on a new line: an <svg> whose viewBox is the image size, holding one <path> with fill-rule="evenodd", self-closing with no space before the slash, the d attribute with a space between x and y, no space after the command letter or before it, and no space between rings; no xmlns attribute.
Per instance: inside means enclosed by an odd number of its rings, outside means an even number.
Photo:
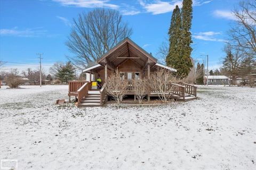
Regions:
<svg viewBox="0 0 256 170"><path fill-rule="evenodd" d="M234 46L256 56L256 0L242 1L233 11L235 21L229 31Z"/></svg>

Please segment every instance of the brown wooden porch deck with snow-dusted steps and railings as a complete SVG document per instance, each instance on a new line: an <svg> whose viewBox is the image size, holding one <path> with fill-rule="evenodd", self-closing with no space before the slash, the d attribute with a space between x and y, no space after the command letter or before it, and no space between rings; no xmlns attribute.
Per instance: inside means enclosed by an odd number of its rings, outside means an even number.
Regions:
<svg viewBox="0 0 256 170"><path fill-rule="evenodd" d="M189 101L197 98L196 90L197 87L191 84L182 83L175 84L172 83L175 87L171 99L176 101ZM91 107L91 106L102 106L106 103L108 96L105 90L106 84L103 84L100 90L92 90L91 82L87 81L69 81L69 102L70 97L77 97L77 106L78 107ZM132 86L127 87L128 91L126 95L136 95ZM150 97L157 97L160 93L155 91L150 91L147 93L147 99L150 100ZM135 97L134 97L135 99Z"/></svg>

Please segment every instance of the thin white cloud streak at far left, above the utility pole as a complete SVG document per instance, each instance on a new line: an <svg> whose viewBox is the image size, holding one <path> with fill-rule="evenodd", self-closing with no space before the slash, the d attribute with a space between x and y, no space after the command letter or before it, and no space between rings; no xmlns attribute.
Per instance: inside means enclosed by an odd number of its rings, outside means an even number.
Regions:
<svg viewBox="0 0 256 170"><path fill-rule="evenodd" d="M45 35L47 31L38 28L27 28L24 30L18 30L17 27L12 29L0 29L1 36L17 36L17 37L39 37Z"/></svg>

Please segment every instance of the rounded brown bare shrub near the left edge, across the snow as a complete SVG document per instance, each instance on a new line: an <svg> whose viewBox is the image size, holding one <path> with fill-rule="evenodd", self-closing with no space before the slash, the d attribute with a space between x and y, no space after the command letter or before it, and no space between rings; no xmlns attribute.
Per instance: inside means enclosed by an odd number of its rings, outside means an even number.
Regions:
<svg viewBox="0 0 256 170"><path fill-rule="evenodd" d="M11 72L7 74L5 81L10 88L18 88L22 83L17 69L12 69Z"/></svg>

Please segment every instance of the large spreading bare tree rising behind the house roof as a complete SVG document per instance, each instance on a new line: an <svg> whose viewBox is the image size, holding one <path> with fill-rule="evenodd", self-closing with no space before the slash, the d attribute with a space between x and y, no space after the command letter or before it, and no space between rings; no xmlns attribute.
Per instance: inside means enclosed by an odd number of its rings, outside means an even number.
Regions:
<svg viewBox="0 0 256 170"><path fill-rule="evenodd" d="M79 14L66 43L75 56L67 57L75 66L84 68L131 34L132 29L117 10L96 8Z"/></svg>

